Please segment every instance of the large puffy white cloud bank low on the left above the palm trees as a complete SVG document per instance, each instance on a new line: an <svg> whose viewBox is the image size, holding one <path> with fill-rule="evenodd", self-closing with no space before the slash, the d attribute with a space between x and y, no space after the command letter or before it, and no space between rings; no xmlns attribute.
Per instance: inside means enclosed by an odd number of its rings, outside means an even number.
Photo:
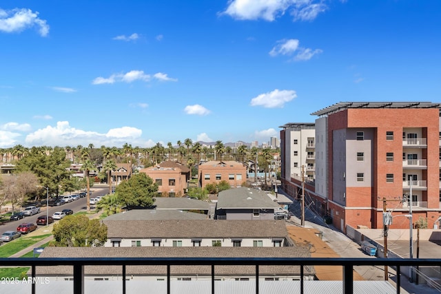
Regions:
<svg viewBox="0 0 441 294"><path fill-rule="evenodd" d="M136 127L120 127L110 129L106 134L100 134L71 127L68 121L59 121L55 127L48 125L28 134L25 143L29 146L70 146L75 142L75 145L83 146L92 143L95 146L118 147L130 142L143 147L146 142L141 139L141 134L142 130Z"/></svg>

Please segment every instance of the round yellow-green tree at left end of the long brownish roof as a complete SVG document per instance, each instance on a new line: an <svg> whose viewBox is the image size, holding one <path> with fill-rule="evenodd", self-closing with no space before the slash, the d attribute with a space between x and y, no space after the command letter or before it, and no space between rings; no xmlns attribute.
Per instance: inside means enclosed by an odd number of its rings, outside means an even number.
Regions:
<svg viewBox="0 0 441 294"><path fill-rule="evenodd" d="M107 240L107 226L87 216L66 216L52 229L55 246L103 246Z"/></svg>

